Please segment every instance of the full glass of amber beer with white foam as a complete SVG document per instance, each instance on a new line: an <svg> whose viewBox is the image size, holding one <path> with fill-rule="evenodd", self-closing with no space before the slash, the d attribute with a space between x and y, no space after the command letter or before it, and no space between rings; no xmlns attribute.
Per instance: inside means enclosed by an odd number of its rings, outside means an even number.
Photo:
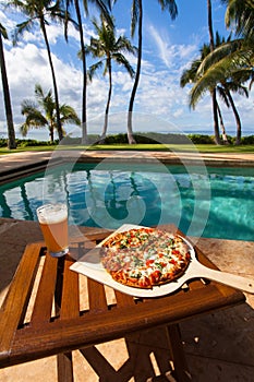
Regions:
<svg viewBox="0 0 254 382"><path fill-rule="evenodd" d="M36 210L48 252L60 258L69 252L65 204L45 204Z"/></svg>

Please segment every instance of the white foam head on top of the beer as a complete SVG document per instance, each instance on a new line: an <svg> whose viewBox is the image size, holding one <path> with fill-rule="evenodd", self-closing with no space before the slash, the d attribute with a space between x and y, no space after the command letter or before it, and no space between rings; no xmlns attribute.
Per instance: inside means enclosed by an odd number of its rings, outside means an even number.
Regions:
<svg viewBox="0 0 254 382"><path fill-rule="evenodd" d="M55 224L65 220L68 208L65 204L45 204L37 208L39 223Z"/></svg>

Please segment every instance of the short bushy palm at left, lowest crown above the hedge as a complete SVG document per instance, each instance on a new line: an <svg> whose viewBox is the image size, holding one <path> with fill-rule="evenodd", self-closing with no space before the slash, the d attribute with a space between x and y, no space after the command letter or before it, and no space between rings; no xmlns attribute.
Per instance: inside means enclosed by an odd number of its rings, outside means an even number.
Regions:
<svg viewBox="0 0 254 382"><path fill-rule="evenodd" d="M26 136L29 129L45 128L49 130L50 142L53 143L53 132L58 128L57 107L52 96L52 91L44 93L39 84L35 85L36 102L24 99L21 105L21 112L26 117L25 122L21 126L23 136ZM75 110L69 105L59 107L61 126L64 123L81 124L80 118Z"/></svg>

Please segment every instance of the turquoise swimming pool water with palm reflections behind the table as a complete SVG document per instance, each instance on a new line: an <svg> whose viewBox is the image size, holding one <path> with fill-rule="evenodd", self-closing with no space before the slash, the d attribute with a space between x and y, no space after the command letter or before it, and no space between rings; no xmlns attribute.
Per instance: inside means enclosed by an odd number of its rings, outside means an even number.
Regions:
<svg viewBox="0 0 254 382"><path fill-rule="evenodd" d="M118 228L174 223L190 236L254 240L254 169L147 164L58 166L0 187L0 216L36 220L65 201L70 224Z"/></svg>

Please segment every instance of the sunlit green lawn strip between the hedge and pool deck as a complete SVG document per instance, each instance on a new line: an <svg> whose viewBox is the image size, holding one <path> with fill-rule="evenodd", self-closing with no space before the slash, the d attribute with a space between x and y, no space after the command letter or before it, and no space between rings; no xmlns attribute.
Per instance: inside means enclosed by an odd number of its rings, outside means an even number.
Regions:
<svg viewBox="0 0 254 382"><path fill-rule="evenodd" d="M172 145L162 145L162 144L107 144L107 145L94 145L94 146L82 146L82 145L72 145L72 146L27 146L27 147L17 147L16 150L8 150L7 147L0 147L0 155L10 154L10 153L22 153L22 152L43 152L43 151L53 151L53 150L98 150L98 151L173 151L173 152L193 152L198 151L201 153L254 153L254 145L228 145L228 146L217 146L214 144L196 144L196 145L183 145L183 144L172 144Z"/></svg>

